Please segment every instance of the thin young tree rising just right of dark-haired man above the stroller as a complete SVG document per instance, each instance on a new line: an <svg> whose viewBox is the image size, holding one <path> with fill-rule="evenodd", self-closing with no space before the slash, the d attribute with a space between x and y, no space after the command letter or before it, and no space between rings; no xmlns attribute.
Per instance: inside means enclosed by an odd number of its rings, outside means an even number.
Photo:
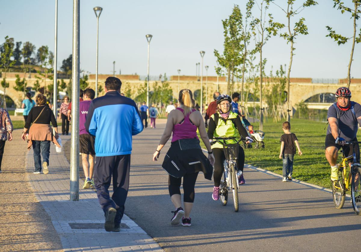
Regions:
<svg viewBox="0 0 361 252"><path fill-rule="evenodd" d="M242 89L241 89L241 113L244 114L244 74L247 71L246 70L246 63L247 63L247 55L248 55L248 45L249 41L251 40L251 25L252 21L249 23L249 19L252 18L252 8L255 4L254 0L248 0L246 4L246 15L244 18L244 25L241 28L241 36L242 36L242 42L243 42L243 65L242 65Z"/></svg>

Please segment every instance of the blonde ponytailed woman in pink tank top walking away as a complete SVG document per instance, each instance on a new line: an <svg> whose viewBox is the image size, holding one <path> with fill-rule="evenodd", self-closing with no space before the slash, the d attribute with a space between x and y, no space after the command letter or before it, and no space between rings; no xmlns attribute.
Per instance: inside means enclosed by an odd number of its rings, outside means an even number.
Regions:
<svg viewBox="0 0 361 252"><path fill-rule="evenodd" d="M214 156L208 135L206 134L204 121L199 111L192 109L194 100L189 89L179 92L180 107L172 110L168 115L167 124L160 143L153 154L153 161L159 158L160 150L169 140L172 132L171 145L164 157L162 167L169 174L168 188L175 211L170 223L183 226L191 225L190 213L194 202L194 186L198 173L202 171L204 177L212 180ZM204 156L197 136L197 129L203 143L208 150L208 158ZM181 202L181 183L183 177L183 201Z"/></svg>

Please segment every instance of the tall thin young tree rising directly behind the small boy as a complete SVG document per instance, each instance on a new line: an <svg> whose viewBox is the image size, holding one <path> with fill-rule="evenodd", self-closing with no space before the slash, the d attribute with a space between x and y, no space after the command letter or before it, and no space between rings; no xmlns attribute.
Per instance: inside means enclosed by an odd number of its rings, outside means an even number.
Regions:
<svg viewBox="0 0 361 252"><path fill-rule="evenodd" d="M273 4L275 4L273 2ZM295 15L300 14L306 7L317 5L316 1L313 0L306 0L301 6L299 6L297 9L294 8L295 0L287 0L287 9L282 8L280 5L277 5L285 14L287 18L287 24L283 26L287 27L288 31L281 33L280 37L283 37L287 41L287 44L290 43L291 46L291 56L290 56L290 64L288 65L288 71L287 71L287 121L290 121L290 109L291 109L291 101L290 101L290 73L291 73L291 67L292 67L292 60L293 60L293 51L296 49L293 47L293 44L295 43L295 39L298 35L307 35L308 34L308 28L306 24L304 23L305 19L300 18L298 22L295 22L295 25L293 28L291 28L291 18L295 17Z"/></svg>

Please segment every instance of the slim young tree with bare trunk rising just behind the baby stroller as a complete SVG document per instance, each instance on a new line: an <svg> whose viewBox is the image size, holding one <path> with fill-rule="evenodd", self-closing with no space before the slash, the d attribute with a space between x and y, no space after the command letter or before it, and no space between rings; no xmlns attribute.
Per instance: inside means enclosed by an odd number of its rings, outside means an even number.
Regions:
<svg viewBox="0 0 361 252"><path fill-rule="evenodd" d="M263 70L263 58L262 58L262 49L266 42L270 39L271 36L276 36L280 28L283 28L284 25L273 22L272 14L267 15L269 9L270 0L262 0L261 5L257 7L260 10L259 18L255 18L255 21L252 23L252 33L255 37L256 50L260 53L260 130L263 130L263 107L262 107L262 82L264 73ZM268 23L268 25L267 25Z"/></svg>

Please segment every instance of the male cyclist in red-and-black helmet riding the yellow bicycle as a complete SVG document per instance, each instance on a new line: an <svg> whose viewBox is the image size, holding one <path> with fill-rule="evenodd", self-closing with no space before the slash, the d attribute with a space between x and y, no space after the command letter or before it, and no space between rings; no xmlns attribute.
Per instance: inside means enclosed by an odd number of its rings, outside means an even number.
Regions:
<svg viewBox="0 0 361 252"><path fill-rule="evenodd" d="M353 147L345 146L346 141L357 141L356 134L359 123L361 125L361 105L351 102L351 91L347 87L340 87L336 91L337 102L329 107L327 120L330 125L327 128L325 140L326 158L331 166L331 181L338 180L337 158L338 151L342 148L345 156L351 156ZM360 147L355 146L357 162L360 162Z"/></svg>

